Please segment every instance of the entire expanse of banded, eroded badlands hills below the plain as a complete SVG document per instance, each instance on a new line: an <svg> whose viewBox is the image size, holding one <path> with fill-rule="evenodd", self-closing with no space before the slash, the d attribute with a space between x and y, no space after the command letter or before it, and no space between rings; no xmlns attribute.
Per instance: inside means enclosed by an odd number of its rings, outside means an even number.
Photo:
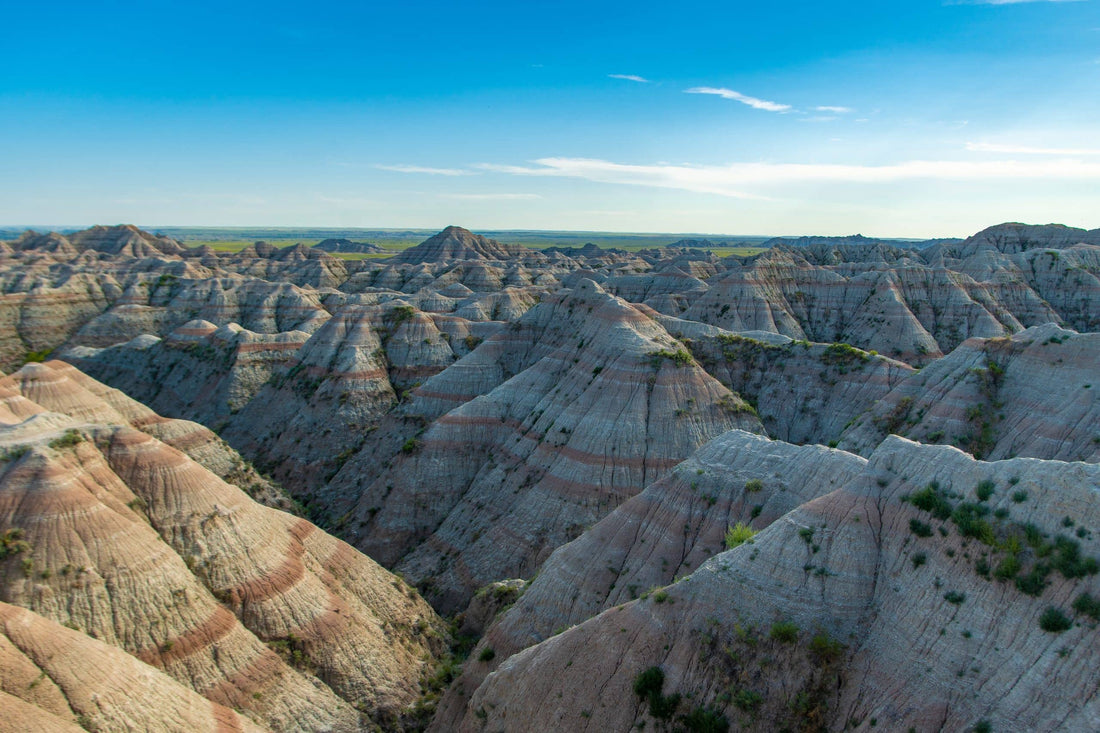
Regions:
<svg viewBox="0 0 1100 733"><path fill-rule="evenodd" d="M0 242L0 730L1100 730L1100 230Z"/></svg>

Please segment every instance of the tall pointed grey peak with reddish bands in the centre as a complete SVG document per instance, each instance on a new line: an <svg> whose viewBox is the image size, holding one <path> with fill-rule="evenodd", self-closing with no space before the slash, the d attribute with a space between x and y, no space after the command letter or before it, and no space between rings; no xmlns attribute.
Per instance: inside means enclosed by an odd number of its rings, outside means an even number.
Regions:
<svg viewBox="0 0 1100 733"><path fill-rule="evenodd" d="M330 490L360 496L348 528L358 546L452 610L491 580L534 572L710 437L760 429L664 329L591 281L414 396L464 402L377 479L361 482L364 456Z"/></svg>

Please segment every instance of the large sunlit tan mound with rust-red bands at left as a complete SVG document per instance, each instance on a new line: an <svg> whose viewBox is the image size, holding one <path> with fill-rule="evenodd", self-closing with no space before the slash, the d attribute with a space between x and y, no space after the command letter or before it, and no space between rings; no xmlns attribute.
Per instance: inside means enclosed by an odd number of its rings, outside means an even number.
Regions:
<svg viewBox="0 0 1100 733"><path fill-rule="evenodd" d="M4 602L277 730L352 730L416 699L442 624L415 592L129 427L147 411L90 382L57 362L0 380L0 532L25 543L0 565Z"/></svg>

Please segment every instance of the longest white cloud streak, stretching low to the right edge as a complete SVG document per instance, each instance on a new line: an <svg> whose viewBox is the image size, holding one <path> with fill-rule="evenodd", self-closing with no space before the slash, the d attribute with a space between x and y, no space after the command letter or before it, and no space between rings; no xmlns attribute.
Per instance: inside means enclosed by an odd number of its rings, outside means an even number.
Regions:
<svg viewBox="0 0 1100 733"><path fill-rule="evenodd" d="M484 171L524 176L582 178L596 183L675 188L730 198L766 199L777 186L821 183L880 184L934 180L1097 180L1100 163L1050 161L908 161L890 165L734 163L732 165L628 165L574 157L543 157L534 165L480 164Z"/></svg>

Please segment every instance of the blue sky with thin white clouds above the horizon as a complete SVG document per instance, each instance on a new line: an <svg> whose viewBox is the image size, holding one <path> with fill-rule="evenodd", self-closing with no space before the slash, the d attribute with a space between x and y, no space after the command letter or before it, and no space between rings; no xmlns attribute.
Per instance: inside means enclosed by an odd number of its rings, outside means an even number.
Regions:
<svg viewBox="0 0 1100 733"><path fill-rule="evenodd" d="M1100 0L0 2L0 225L1100 227Z"/></svg>

